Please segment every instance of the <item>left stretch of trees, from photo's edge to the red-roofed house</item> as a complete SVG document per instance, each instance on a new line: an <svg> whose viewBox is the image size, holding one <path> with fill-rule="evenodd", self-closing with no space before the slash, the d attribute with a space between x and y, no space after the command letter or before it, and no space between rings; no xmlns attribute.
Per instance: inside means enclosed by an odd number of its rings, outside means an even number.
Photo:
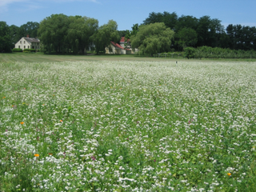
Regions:
<svg viewBox="0 0 256 192"><path fill-rule="evenodd" d="M67 16L52 14L40 22L27 22L18 26L8 26L0 22L0 52L10 52L22 37L40 39L42 51L45 53L84 54L87 50L94 50L96 54L105 51L110 42L120 41L117 22L110 20L98 26L98 20L82 16Z"/></svg>

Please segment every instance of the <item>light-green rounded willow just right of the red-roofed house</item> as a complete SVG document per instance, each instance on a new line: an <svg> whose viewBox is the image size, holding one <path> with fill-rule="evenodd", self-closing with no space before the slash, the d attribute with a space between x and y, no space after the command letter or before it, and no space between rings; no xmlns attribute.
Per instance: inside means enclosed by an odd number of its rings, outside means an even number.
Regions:
<svg viewBox="0 0 256 192"><path fill-rule="evenodd" d="M139 49L142 54L161 53L170 50L174 31L166 28L163 22L151 23L138 27L138 33L130 38L132 49Z"/></svg>

